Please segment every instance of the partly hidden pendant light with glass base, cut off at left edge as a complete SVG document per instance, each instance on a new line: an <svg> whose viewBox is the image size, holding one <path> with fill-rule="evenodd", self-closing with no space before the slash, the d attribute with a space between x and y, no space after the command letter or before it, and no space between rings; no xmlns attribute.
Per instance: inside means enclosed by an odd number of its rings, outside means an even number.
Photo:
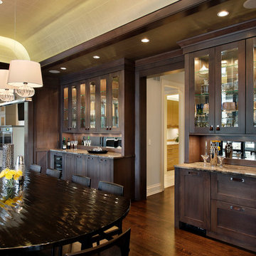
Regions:
<svg viewBox="0 0 256 256"><path fill-rule="evenodd" d="M11 101L14 100L15 86L7 84L9 70L0 70L0 100Z"/></svg>

